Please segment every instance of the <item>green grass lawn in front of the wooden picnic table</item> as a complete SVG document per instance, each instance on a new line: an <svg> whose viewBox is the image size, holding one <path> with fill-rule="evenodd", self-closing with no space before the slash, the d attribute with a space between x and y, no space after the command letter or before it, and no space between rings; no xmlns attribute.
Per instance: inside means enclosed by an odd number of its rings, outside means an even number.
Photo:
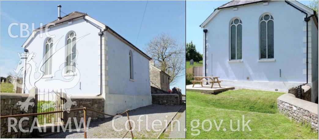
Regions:
<svg viewBox="0 0 319 140"><path fill-rule="evenodd" d="M309 125L291 121L277 111L277 98L284 93L248 89L228 90L216 95L186 93L187 139L318 139L318 133ZM245 123L250 120L251 131L248 127L242 131L242 115L245 115ZM198 136L191 135L197 134L197 131L191 130L193 119L200 122L196 128L200 130ZM205 119L212 122L209 131L202 129ZM215 126L219 125L218 131ZM239 131L233 132L231 129L237 129L237 125L240 125ZM197 126L197 122L193 122L193 126ZM204 129L209 129L209 122L204 123Z"/></svg>

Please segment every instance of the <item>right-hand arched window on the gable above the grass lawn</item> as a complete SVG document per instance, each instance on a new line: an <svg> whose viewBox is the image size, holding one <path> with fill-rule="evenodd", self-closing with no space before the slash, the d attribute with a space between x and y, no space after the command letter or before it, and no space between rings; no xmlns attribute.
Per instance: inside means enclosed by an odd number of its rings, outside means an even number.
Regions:
<svg viewBox="0 0 319 140"><path fill-rule="evenodd" d="M274 18L264 14L259 20L260 59L274 58Z"/></svg>

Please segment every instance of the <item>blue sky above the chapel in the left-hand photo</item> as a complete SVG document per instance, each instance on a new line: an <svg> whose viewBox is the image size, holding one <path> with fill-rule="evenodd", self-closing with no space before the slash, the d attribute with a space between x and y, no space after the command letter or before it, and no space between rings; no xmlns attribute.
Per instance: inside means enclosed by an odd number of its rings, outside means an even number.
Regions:
<svg viewBox="0 0 319 140"><path fill-rule="evenodd" d="M8 26L12 22L29 24L35 28L40 23L47 24L56 20L57 5L69 14L73 11L84 12L94 19L108 25L122 37L144 51L146 44L160 33L168 33L185 42L185 1L148 1L144 21L137 40L146 1L1 1L1 69L0 75L7 76L19 62L18 52L23 52L22 44L27 38L11 38ZM61 14L65 16L65 14ZM13 35L19 34L20 26L13 26ZM137 44L136 44L137 40ZM185 94L185 78L176 85Z"/></svg>

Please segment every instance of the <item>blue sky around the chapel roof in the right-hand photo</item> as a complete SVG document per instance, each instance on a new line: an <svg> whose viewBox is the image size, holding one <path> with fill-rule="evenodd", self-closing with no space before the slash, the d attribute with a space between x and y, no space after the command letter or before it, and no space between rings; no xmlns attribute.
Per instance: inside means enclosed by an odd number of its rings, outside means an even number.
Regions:
<svg viewBox="0 0 319 140"><path fill-rule="evenodd" d="M229 1L186 1L186 42L193 41L203 54L203 29L199 27L215 8ZM304 5L311 1L298 1Z"/></svg>

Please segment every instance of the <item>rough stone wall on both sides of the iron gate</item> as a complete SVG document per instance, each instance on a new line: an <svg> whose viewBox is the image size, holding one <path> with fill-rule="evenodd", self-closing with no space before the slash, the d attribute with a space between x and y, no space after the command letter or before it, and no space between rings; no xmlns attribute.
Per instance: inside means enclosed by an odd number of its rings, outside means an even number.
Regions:
<svg viewBox="0 0 319 140"><path fill-rule="evenodd" d="M1 100L1 116L6 115L19 115L19 114L31 114L34 112L34 107L28 106L27 112L22 111L20 109L20 106L17 105L18 101L26 101L29 94L13 94L13 93L0 93L0 100ZM77 106L72 106L71 109L74 108L90 108L93 110L97 110L99 112L104 111L104 98L100 96L72 96L72 101L76 101ZM34 99L32 99L30 102L34 102ZM72 121L72 126L74 126L74 120L73 117L77 118L77 123L79 123L80 119L84 116L83 110L78 111L71 111L70 113L64 112L63 113L63 120L64 122L67 121L67 119L70 117ZM96 120L100 118L104 118L104 115L92 111L86 112L86 118L88 119L91 117L91 120ZM0 125L1 125L1 132L0 132L0 138L30 138L33 133L32 132L21 132L19 129L19 121L22 117L17 118L17 125L15 128L18 130L18 132L15 132L13 128L11 128L11 132L8 131L8 119L1 119ZM23 120L22 121L22 129L28 129L30 130L32 123L33 123L33 116L28 117L29 120ZM13 122L11 121L11 124ZM33 129L34 132L36 132L36 129Z"/></svg>

